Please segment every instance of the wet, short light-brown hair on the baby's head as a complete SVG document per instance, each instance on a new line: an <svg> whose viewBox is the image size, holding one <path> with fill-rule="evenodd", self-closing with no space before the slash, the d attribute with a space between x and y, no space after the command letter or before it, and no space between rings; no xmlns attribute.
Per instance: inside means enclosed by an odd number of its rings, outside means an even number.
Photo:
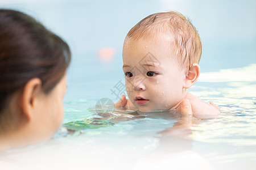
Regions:
<svg viewBox="0 0 256 170"><path fill-rule="evenodd" d="M127 33L126 38L147 39L148 36L165 35L173 37L174 54L181 66L199 63L202 44L194 25L179 12L159 12L147 16Z"/></svg>

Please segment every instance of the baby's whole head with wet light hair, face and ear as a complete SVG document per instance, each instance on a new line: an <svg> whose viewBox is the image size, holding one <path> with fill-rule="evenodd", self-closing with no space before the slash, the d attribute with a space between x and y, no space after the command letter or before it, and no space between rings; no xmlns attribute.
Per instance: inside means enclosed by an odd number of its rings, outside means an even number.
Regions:
<svg viewBox="0 0 256 170"><path fill-rule="evenodd" d="M200 74L201 41L177 12L136 24L123 44L123 71L131 102L140 111L176 109Z"/></svg>

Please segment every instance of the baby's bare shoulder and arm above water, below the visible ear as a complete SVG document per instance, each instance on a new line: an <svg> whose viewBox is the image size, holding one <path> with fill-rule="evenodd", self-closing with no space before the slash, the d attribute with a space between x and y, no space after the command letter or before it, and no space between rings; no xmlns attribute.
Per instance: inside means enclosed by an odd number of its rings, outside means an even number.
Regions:
<svg viewBox="0 0 256 170"><path fill-rule="evenodd" d="M205 101L199 99L195 95L188 92L185 99L188 99L192 105L193 116L199 118L212 118L216 117L220 111L218 107L213 103L206 103Z"/></svg>

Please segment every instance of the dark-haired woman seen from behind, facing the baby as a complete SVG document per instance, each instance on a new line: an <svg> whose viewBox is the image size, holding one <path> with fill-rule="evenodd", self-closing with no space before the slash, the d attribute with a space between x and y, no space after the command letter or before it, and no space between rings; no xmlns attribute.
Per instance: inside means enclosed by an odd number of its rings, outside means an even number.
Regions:
<svg viewBox="0 0 256 170"><path fill-rule="evenodd" d="M0 10L0 150L56 133L70 61L67 43L34 18Z"/></svg>

